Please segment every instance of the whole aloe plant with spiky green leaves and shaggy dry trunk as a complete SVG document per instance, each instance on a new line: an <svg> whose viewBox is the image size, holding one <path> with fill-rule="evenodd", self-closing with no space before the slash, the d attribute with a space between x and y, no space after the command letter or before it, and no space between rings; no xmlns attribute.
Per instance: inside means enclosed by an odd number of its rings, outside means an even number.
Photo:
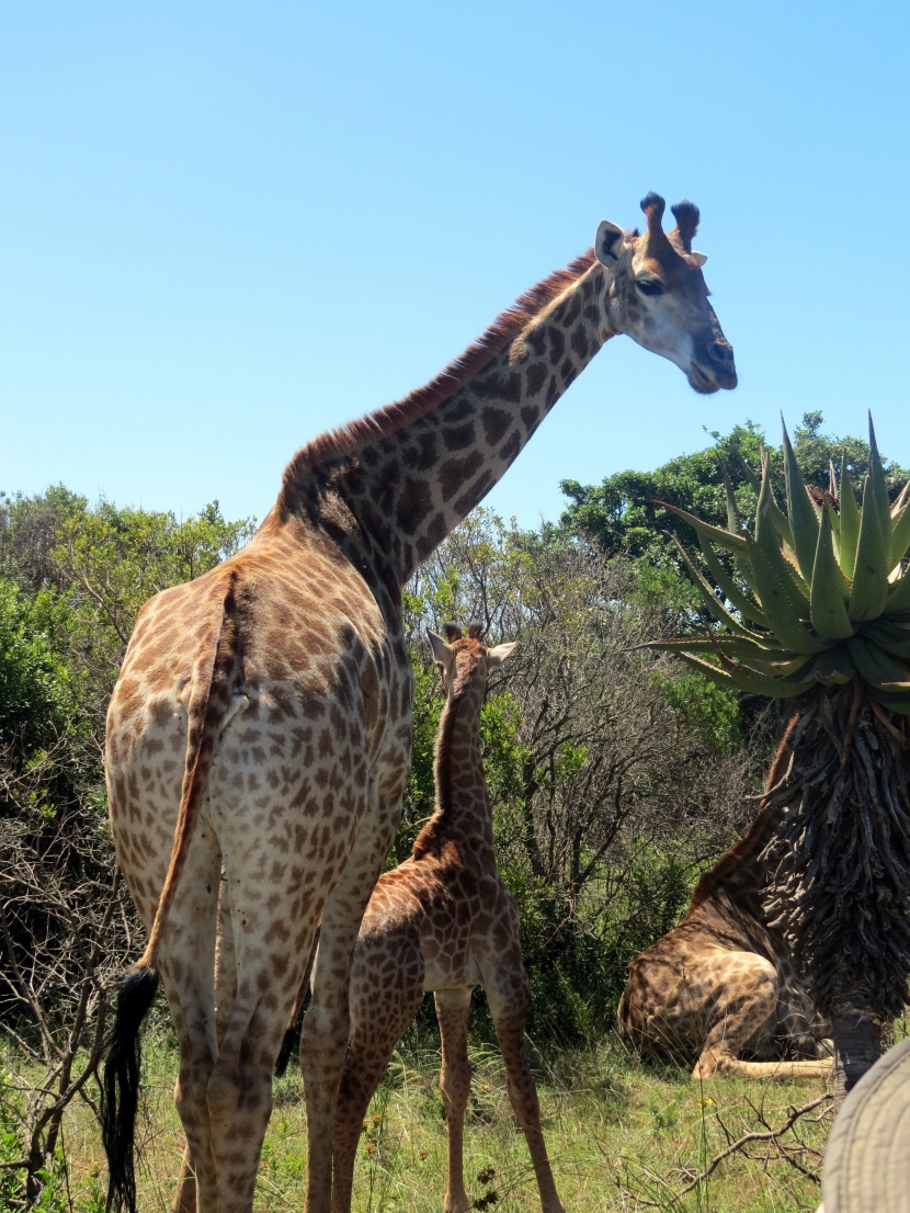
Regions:
<svg viewBox="0 0 910 1213"><path fill-rule="evenodd" d="M728 488L728 528L692 524L677 545L716 621L655 642L723 687L792 700L792 759L769 905L820 1009L849 1089L908 1001L910 972L910 482L888 500L869 421L858 502L849 469L807 486L784 428L785 506L762 455L747 530Z"/></svg>

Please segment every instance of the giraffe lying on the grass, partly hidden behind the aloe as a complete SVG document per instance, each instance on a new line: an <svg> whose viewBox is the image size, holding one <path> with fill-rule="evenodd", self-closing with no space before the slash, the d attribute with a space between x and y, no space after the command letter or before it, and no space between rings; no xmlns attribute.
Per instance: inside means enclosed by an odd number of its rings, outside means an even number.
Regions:
<svg viewBox="0 0 910 1213"><path fill-rule="evenodd" d="M790 722L766 792L790 762ZM629 966L620 1035L642 1055L698 1054L694 1080L717 1075L800 1078L831 1074L829 1029L803 989L790 950L768 923L762 852L778 811L766 804L745 836L705 872L679 923ZM795 1053L804 1060L745 1061Z"/></svg>

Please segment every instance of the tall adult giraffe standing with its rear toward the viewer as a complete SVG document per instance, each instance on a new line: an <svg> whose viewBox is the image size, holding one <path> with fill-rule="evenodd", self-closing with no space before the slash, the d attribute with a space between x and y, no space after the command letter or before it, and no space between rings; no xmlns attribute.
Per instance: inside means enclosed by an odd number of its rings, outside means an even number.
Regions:
<svg viewBox="0 0 910 1213"><path fill-rule="evenodd" d="M200 1213L251 1208L322 916L301 1055L307 1213L329 1213L351 957L410 761L402 587L610 337L669 358L696 392L736 385L692 251L698 207L675 206L669 235L661 198L642 210L643 234L601 223L593 250L428 385L303 446L252 542L142 608L108 713L112 830L149 929L104 1076L110 1205L135 1209L138 1026L160 972Z"/></svg>

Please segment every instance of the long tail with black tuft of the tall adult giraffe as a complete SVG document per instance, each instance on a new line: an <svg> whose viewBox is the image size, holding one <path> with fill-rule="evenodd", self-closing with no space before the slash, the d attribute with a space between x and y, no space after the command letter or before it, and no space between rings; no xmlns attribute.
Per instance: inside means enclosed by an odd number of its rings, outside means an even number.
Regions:
<svg viewBox="0 0 910 1213"><path fill-rule="evenodd" d="M136 1213L133 1139L138 1107L142 1020L158 991L155 956L186 865L199 809L209 788L215 748L227 714L240 655L237 573L222 599L217 633L197 661L188 705L189 728L174 847L148 944L123 981L102 1075L102 1137L108 1158L107 1213Z"/></svg>

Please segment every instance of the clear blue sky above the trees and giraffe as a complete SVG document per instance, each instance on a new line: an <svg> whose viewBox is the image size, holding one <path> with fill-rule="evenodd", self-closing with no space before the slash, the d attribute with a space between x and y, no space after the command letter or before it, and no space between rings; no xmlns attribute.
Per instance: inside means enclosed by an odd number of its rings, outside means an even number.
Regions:
<svg viewBox="0 0 910 1213"><path fill-rule="evenodd" d="M882 2L6 5L0 488L229 517L511 300L689 197L740 387L627 338L488 503L557 518L752 418L871 406L910 463L910 10Z"/></svg>

